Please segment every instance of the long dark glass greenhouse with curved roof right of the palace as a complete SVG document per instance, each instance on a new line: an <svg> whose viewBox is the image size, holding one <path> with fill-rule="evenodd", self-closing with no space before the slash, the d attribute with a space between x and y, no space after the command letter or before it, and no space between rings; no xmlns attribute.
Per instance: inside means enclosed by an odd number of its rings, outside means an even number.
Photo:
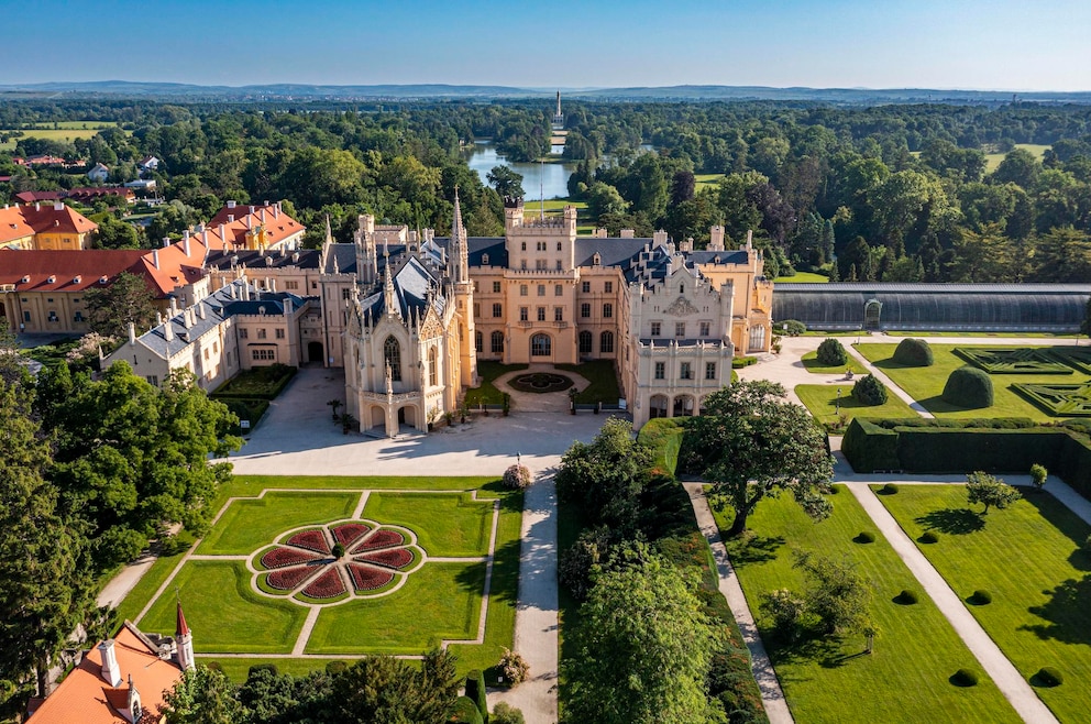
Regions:
<svg viewBox="0 0 1091 724"><path fill-rule="evenodd" d="M1076 332L1089 284L778 284L773 319L816 330Z"/></svg>

